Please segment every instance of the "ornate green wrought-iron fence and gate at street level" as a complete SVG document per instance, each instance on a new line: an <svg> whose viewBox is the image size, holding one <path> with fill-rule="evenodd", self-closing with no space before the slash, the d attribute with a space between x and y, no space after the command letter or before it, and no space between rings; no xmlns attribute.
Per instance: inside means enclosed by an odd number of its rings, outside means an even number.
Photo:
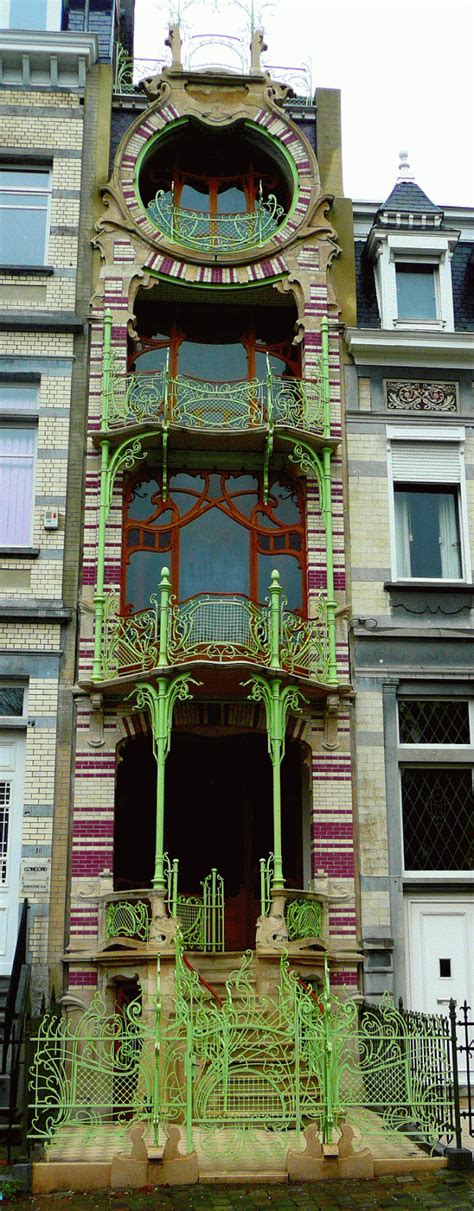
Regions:
<svg viewBox="0 0 474 1211"><path fill-rule="evenodd" d="M228 978L219 1005L183 960L178 935L173 1017L156 995L110 1014L99 995L79 1020L46 1016L30 1073L32 1137L46 1146L108 1129L116 1142L144 1123L156 1143L171 1123L301 1131L314 1123L326 1143L345 1119L371 1137L400 1131L434 1147L452 1137L449 1022L405 1015L384 997L362 1012L331 992L327 968L315 999L282 957L275 995L257 995L252 954ZM205 1146L205 1144L204 1144ZM101 1155L101 1153L99 1153Z"/></svg>

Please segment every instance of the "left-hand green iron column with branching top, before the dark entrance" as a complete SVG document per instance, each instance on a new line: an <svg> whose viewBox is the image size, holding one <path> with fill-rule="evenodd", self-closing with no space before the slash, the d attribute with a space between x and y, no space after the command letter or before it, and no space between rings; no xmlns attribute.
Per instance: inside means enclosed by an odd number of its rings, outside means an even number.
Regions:
<svg viewBox="0 0 474 1211"><path fill-rule="evenodd" d="M192 698L189 685L195 685L188 673L179 673L173 681L159 677L156 685L141 682L129 696L135 700L137 710L145 710L150 717L153 751L156 761L156 831L155 831L155 871L153 886L155 891L166 893L164 866L164 825L165 825L165 765L170 752L171 727L175 704Z"/></svg>

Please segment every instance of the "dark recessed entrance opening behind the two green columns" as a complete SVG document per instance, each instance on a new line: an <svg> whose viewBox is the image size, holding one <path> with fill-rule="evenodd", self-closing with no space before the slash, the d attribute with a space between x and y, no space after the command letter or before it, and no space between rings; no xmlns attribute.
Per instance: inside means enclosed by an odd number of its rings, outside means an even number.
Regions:
<svg viewBox="0 0 474 1211"><path fill-rule="evenodd" d="M156 769L149 736L126 742L116 777L114 884L152 884ZM282 854L302 886L302 750L281 768ZM259 859L273 849L272 764L265 735L175 734L166 762L165 848L179 859L179 893L199 895L216 867L224 880L225 949L255 947Z"/></svg>

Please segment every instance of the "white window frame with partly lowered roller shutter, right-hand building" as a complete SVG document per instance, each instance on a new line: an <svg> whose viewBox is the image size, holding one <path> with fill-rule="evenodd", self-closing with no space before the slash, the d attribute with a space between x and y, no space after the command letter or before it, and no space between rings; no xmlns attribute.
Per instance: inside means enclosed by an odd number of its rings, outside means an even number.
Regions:
<svg viewBox="0 0 474 1211"><path fill-rule="evenodd" d="M419 444L426 442L439 442L441 446L447 446L456 443L459 454L459 478L452 481L453 486L458 489L458 523L459 523L459 539L461 539L461 568L462 575L456 578L456 584L472 584L472 569L470 569L470 552L469 552L469 527L468 527L468 509L467 509L467 492L466 492L466 465L464 465L464 441L466 430L464 427L450 427L450 429L435 429L435 427L409 427L409 426L387 426L387 460L388 460L388 507L389 507L389 526L390 526L390 555L392 555L392 578L393 581L400 585L439 585L442 590L444 584L452 584L453 581L442 576L400 576L398 573L398 559L396 559L396 533L395 533L395 483L401 482L396 480L393 470L393 448L396 442L410 442ZM410 478L404 482L409 483ZM426 480L417 480L417 483L426 483L427 487L436 487L436 482L442 484L442 480L433 480L429 476L429 469L427 467Z"/></svg>

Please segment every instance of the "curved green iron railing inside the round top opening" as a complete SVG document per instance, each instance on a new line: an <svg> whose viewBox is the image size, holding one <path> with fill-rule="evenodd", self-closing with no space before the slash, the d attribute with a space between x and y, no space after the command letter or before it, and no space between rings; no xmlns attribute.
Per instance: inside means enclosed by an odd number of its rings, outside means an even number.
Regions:
<svg viewBox="0 0 474 1211"><path fill-rule="evenodd" d="M207 253L240 252L265 243L280 226L285 211L274 194L263 199L262 188L255 211L229 214L175 206L172 196L159 189L147 206L147 214L169 240Z"/></svg>

